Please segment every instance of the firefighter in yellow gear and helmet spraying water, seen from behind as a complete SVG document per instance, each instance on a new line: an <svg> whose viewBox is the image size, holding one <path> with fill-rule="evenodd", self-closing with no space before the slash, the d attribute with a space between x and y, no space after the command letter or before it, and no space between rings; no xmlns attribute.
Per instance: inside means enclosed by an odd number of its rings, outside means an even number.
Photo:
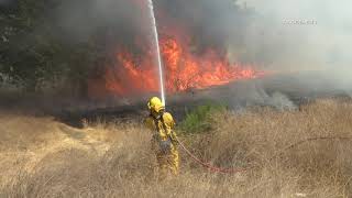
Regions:
<svg viewBox="0 0 352 198"><path fill-rule="evenodd" d="M150 99L147 108L150 116L145 119L145 124L154 132L152 150L156 154L161 174L167 175L170 173L178 175L179 157L176 141L177 136L173 130L175 127L173 116L165 112L165 107L157 97Z"/></svg>

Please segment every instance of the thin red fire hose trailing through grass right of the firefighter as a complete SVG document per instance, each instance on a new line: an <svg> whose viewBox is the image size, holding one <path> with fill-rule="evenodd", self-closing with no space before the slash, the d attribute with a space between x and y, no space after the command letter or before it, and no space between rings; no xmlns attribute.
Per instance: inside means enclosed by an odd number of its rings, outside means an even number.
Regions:
<svg viewBox="0 0 352 198"><path fill-rule="evenodd" d="M321 140L348 140L351 141L352 138L346 138L346 136L318 136L318 138L308 138L305 140L301 140L299 142L296 142L294 144L290 144L289 146L280 150L277 154L275 154L274 156L270 157L268 161L272 161L273 158L277 157L278 155L280 155L282 153L284 153L287 150L297 147L298 145L301 145L304 143L307 142L314 142L314 141L321 141ZM240 168L240 167L232 167L232 168L223 168L223 167L217 167L211 165L210 163L206 163L201 160L199 160L196 155L194 155L186 146L185 144L183 144L182 141L179 141L178 138L176 138L177 143L179 144L179 146L187 153L187 155L194 160L196 163L198 163L199 165L201 165L202 167L213 172L213 173L222 173L222 174L237 174L237 173L242 173L242 172L246 172L249 169L252 169L253 167L248 167L248 168Z"/></svg>

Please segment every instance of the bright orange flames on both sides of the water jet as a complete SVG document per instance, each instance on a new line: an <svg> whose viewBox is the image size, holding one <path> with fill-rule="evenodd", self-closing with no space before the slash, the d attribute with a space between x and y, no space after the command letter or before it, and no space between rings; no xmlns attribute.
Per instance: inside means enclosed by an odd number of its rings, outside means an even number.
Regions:
<svg viewBox="0 0 352 198"><path fill-rule="evenodd" d="M230 64L226 56L212 48L202 54L193 53L190 44L176 36L162 37L160 45L168 92L205 89L262 75L251 65ZM116 58L117 65L107 67L105 72L107 92L129 96L158 91L158 74L152 51L140 57L127 50L118 50ZM97 89L99 86L92 87Z"/></svg>

